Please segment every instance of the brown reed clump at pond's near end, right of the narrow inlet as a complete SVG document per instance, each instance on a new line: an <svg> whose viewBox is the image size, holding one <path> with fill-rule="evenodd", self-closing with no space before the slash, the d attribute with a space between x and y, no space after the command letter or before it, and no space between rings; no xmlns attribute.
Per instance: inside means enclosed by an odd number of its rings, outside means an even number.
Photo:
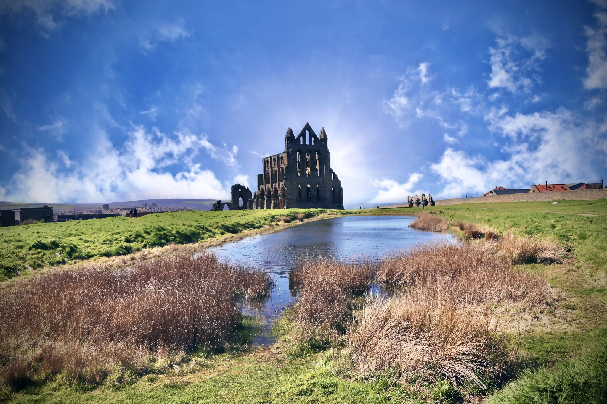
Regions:
<svg viewBox="0 0 607 404"><path fill-rule="evenodd" d="M342 328L348 317L348 299L366 291L376 274L377 265L370 260L300 263L291 280L303 286L293 306L293 315L304 337L331 334L334 329ZM320 338L330 338L328 334Z"/></svg>

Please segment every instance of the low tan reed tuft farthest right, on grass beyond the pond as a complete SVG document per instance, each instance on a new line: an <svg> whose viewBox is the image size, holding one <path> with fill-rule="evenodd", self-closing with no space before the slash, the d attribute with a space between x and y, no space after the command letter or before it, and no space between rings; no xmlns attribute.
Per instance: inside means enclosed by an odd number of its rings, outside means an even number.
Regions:
<svg viewBox="0 0 607 404"><path fill-rule="evenodd" d="M511 264L569 263L569 252L554 241L518 237L508 231L495 244L498 254Z"/></svg>

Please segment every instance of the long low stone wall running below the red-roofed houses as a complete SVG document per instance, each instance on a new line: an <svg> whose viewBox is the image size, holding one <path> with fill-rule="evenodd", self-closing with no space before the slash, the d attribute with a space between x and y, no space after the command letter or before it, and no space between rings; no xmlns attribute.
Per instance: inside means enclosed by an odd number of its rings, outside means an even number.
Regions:
<svg viewBox="0 0 607 404"><path fill-rule="evenodd" d="M607 198L607 188L604 189L577 189L572 191L535 192L528 194L494 195L493 197L470 197L435 200L436 206L455 205L459 203L485 203L485 202L541 202L559 199L591 201ZM381 207L407 207L406 203Z"/></svg>

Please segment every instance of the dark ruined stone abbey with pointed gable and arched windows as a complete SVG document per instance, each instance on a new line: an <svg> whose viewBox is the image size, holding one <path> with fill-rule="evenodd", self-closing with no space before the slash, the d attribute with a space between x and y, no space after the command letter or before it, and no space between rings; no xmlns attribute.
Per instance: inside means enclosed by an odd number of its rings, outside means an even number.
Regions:
<svg viewBox="0 0 607 404"><path fill-rule="evenodd" d="M240 184L232 186L230 202L217 201L211 210L287 209L326 207L344 209L341 181L329 166L327 133L319 135L309 123L295 136L291 128L285 135L285 150L262 159L263 173L257 175L257 190Z"/></svg>

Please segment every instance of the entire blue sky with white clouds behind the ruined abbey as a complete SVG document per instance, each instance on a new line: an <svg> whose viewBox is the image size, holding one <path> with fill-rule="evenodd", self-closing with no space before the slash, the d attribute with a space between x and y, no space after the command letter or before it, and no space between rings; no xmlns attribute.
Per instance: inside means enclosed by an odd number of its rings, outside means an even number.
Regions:
<svg viewBox="0 0 607 404"><path fill-rule="evenodd" d="M607 0L0 4L0 200L228 198L325 127L346 206L607 173Z"/></svg>

